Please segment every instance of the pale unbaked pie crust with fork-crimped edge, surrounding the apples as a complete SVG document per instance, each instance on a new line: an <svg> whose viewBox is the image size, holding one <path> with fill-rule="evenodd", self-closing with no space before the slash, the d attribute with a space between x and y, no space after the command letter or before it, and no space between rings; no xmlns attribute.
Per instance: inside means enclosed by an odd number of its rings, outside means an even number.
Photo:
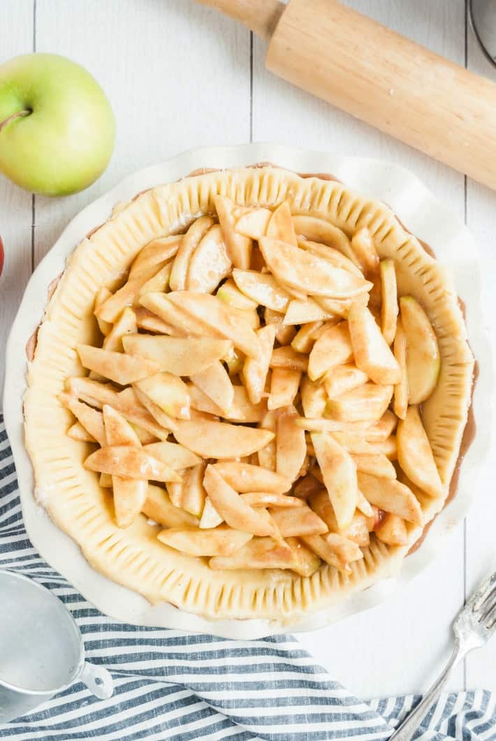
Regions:
<svg viewBox="0 0 496 741"><path fill-rule="evenodd" d="M363 559L352 562L348 574L325 564L310 577L280 569L213 571L207 559L184 556L159 542L145 515L128 529L116 526L111 497L96 473L83 468L93 448L67 437L73 417L59 402L67 378L85 374L76 344L98 341L96 290L116 285L151 240L181 233L194 219L214 213L216 194L249 207L273 209L287 201L291 213L325 219L348 236L366 226L380 258L394 259L399 295L414 296L423 305L440 349L440 377L423 405L423 424L443 496L420 496L424 522L440 511L467 422L474 368L452 279L383 203L353 193L340 182L302 178L271 166L202 173L155 187L119 207L76 247L47 305L29 363L26 445L36 496L97 571L152 603L171 602L211 618L291 621L397 571L422 528L409 528L409 543L401 547L373 536L363 548Z"/></svg>

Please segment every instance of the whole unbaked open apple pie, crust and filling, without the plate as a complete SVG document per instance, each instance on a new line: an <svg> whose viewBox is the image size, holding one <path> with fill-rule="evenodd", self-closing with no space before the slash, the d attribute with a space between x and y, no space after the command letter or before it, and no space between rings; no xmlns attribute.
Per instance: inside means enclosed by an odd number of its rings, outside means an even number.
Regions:
<svg viewBox="0 0 496 741"><path fill-rule="evenodd" d="M474 359L383 203L278 167L141 193L76 247L24 399L36 495L151 602L291 621L443 508Z"/></svg>

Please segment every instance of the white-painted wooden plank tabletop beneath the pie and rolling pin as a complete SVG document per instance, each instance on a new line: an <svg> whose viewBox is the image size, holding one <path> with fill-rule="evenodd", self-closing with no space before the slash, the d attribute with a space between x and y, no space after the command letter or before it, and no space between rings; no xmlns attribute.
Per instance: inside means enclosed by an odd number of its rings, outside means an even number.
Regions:
<svg viewBox="0 0 496 741"><path fill-rule="evenodd" d="M348 1L495 77L467 27L464 0ZM271 76L264 69L265 44L242 27L192 0L0 0L0 64L33 50L69 56L99 79L116 113L118 138L107 172L76 196L33 197L0 176L0 233L7 253L0 281L1 347L31 271L67 221L96 196L133 170L190 147L272 141L397 162L466 218L480 245L487 330L495 348L489 317L496 316L496 193ZM496 568L496 479L489 465L484 480L449 549L406 591L301 636L350 690L363 697L421 691L440 668L452 616L480 577L491 565ZM451 686L496 691L496 639L460 666Z"/></svg>

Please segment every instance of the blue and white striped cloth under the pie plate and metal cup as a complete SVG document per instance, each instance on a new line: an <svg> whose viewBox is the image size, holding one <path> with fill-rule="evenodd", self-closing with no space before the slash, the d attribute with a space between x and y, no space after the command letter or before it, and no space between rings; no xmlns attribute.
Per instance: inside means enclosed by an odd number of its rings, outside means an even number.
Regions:
<svg viewBox="0 0 496 741"><path fill-rule="evenodd" d="M87 657L104 664L115 683L110 700L96 700L82 684L73 685L33 714L0 726L1 739L385 740L420 699L361 702L292 636L233 641L136 628L99 613L27 539L1 416L0 566L31 576L65 602ZM417 738L495 741L495 702L487 691L444 695Z"/></svg>

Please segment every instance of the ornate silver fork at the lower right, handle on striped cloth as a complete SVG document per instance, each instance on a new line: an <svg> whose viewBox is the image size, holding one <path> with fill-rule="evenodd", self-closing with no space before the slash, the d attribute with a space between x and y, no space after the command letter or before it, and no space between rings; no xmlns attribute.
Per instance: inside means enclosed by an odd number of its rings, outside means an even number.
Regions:
<svg viewBox="0 0 496 741"><path fill-rule="evenodd" d="M480 648L496 631L496 571L466 602L453 622L454 649L448 665L389 741L410 741L439 697L454 667L469 651Z"/></svg>

